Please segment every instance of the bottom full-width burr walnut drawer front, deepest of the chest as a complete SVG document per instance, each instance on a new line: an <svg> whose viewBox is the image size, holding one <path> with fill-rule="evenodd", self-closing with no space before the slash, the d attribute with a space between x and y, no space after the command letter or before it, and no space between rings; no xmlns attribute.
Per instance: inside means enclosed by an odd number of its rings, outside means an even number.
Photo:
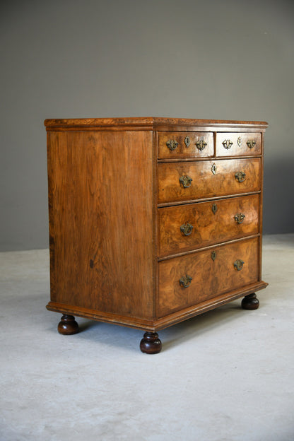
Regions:
<svg viewBox="0 0 294 441"><path fill-rule="evenodd" d="M255 238L160 261L158 317L256 282L258 247Z"/></svg>

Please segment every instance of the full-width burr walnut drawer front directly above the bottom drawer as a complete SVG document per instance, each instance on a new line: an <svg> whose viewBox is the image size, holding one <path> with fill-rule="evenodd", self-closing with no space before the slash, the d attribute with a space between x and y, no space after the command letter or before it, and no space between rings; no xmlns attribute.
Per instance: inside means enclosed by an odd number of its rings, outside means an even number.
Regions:
<svg viewBox="0 0 294 441"><path fill-rule="evenodd" d="M259 194L158 208L159 257L259 232Z"/></svg>

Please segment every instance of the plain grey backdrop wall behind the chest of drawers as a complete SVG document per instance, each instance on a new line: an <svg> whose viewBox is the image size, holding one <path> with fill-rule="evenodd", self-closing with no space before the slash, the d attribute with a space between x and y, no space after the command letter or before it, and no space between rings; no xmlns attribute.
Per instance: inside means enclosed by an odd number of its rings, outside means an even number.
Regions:
<svg viewBox="0 0 294 441"><path fill-rule="evenodd" d="M265 120L264 233L294 231L294 1L2 1L1 249L48 247L45 118Z"/></svg>

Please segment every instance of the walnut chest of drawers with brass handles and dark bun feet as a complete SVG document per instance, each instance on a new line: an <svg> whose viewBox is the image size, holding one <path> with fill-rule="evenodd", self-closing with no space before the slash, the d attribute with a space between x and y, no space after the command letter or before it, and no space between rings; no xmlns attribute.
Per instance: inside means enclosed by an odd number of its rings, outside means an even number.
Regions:
<svg viewBox="0 0 294 441"><path fill-rule="evenodd" d="M47 119L51 300L158 331L244 297L259 306L265 122Z"/></svg>

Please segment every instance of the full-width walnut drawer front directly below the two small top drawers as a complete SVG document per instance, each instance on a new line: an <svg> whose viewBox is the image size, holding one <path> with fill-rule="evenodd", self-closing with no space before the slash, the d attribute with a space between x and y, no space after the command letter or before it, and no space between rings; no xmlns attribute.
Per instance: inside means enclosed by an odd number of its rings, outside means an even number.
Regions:
<svg viewBox="0 0 294 441"><path fill-rule="evenodd" d="M256 192L260 159L158 164L158 204Z"/></svg>

